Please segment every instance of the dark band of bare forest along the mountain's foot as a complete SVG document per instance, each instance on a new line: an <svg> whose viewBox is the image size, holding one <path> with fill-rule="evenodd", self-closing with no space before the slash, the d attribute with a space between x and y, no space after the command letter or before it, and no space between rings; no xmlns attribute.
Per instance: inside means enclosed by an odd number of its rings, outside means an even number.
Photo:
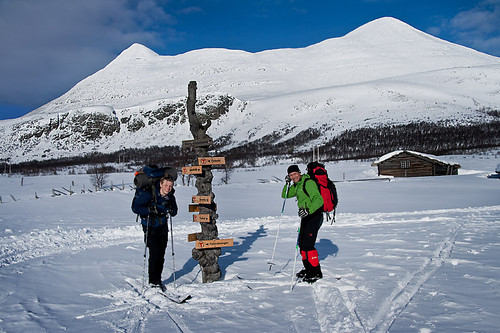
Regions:
<svg viewBox="0 0 500 333"><path fill-rule="evenodd" d="M276 163L284 158L311 159L312 141L321 139L321 129L309 129L293 138L281 141L283 134L274 132L261 139L224 149L230 139L214 140L214 156L225 156L229 166L254 166L259 159ZM409 149L433 155L460 154L471 149L500 146L500 121L469 125L448 125L445 122L415 122L406 125L384 125L347 130L320 147L322 161L377 158L398 149ZM309 148L305 148L309 147ZM57 173L68 167L96 166L107 171L120 171L117 165L127 169L147 164L182 167L196 164L196 156L190 150L178 146L123 149L114 153L92 153L79 157L31 161L7 165L0 172L26 175ZM3 170L2 170L3 169Z"/></svg>

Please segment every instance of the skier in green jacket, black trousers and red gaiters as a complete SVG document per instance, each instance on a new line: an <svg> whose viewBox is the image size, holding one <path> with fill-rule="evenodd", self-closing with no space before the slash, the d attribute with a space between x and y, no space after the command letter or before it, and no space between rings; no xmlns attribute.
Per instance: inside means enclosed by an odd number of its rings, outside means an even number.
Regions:
<svg viewBox="0 0 500 333"><path fill-rule="evenodd" d="M304 269L297 273L297 277L314 283L323 277L318 251L314 247L319 228L323 224L323 198L316 182L309 175L302 175L297 165L288 167L287 172L281 197L297 197L298 214L301 218L298 245ZM291 182L293 185L290 186Z"/></svg>

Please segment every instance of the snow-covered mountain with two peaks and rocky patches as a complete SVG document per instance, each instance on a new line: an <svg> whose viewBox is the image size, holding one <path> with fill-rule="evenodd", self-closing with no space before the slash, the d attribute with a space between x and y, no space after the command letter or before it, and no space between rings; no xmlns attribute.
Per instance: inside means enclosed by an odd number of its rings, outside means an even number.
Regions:
<svg viewBox="0 0 500 333"><path fill-rule="evenodd" d="M223 149L314 129L322 135L303 148L381 124L491 122L485 110L500 106L500 58L394 18L300 49L161 56L134 44L61 97L0 121L0 159L180 145L191 139L184 109L193 80L197 111Z"/></svg>

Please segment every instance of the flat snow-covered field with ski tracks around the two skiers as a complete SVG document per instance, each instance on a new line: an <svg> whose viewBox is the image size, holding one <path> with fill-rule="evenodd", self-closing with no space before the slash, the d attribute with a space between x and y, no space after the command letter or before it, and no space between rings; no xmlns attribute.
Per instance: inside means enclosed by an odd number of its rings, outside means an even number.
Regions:
<svg viewBox="0 0 500 333"><path fill-rule="evenodd" d="M111 177L125 190L98 193L81 193L87 175L24 177L23 186L1 176L0 331L498 331L500 182L486 178L498 156L449 156L458 176L391 181L349 181L376 178L371 162L328 164L340 205L320 230L325 276L313 285L291 284L299 219L293 200L280 217L283 183L272 181L287 165L236 170L214 186L219 236L235 244L223 248L223 278L211 284L200 282L187 242L200 230L187 212L196 189L178 185L177 286L170 243L163 278L193 296L181 305L151 293L147 301L127 282L141 285L143 275L132 174ZM70 186L75 194L51 196Z"/></svg>

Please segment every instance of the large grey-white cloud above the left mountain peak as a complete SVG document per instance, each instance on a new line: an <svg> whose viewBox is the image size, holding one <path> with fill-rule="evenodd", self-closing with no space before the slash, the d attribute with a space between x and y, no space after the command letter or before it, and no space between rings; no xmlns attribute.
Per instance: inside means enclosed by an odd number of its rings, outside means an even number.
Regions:
<svg viewBox="0 0 500 333"><path fill-rule="evenodd" d="M0 102L47 102L134 42L162 46L175 23L155 0L0 0Z"/></svg>

